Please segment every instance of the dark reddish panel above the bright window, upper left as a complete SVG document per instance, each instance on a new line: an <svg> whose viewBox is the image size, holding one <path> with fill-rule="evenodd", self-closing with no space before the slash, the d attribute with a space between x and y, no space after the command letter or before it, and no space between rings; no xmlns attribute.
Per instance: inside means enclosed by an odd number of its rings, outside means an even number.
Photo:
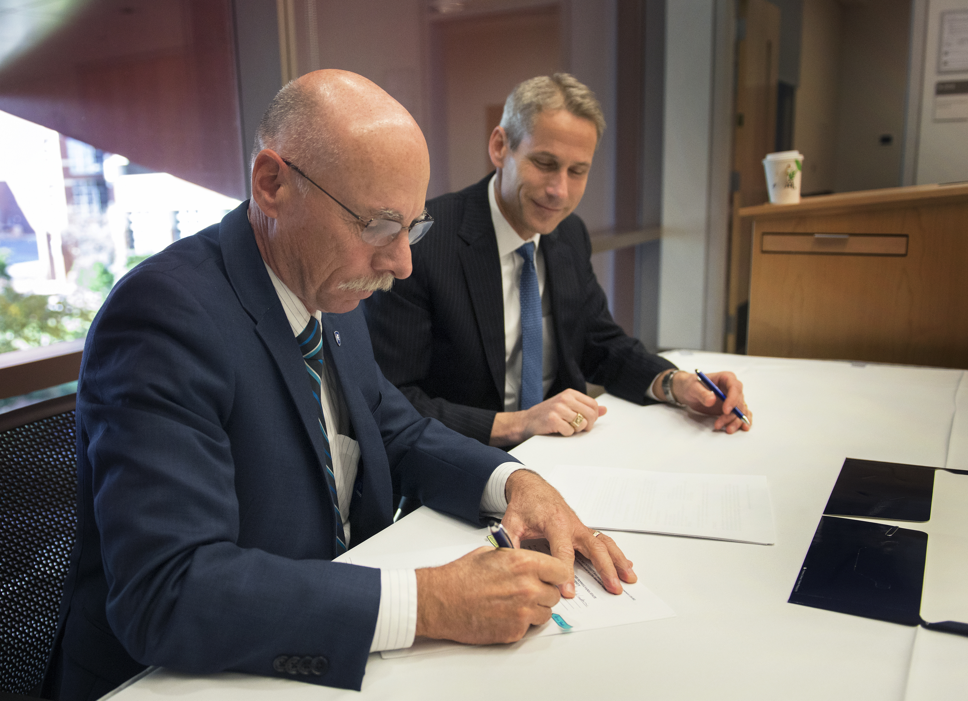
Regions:
<svg viewBox="0 0 968 701"><path fill-rule="evenodd" d="M116 3L91 3L73 24L5 67L0 109L244 198L230 0L126 8L132 12L118 15Z"/></svg>

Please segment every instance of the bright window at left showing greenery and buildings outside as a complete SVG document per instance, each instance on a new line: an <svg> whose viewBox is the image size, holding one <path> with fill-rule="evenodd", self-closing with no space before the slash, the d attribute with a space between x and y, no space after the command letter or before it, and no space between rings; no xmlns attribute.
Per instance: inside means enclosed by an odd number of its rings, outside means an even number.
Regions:
<svg viewBox="0 0 968 701"><path fill-rule="evenodd" d="M0 112L0 353L83 337L116 280L238 204Z"/></svg>

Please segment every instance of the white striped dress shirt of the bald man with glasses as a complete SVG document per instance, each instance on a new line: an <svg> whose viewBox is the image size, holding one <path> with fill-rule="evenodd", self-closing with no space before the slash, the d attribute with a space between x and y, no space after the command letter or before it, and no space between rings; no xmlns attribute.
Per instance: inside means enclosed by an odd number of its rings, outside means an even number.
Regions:
<svg viewBox="0 0 968 701"><path fill-rule="evenodd" d="M267 264L265 270L286 311L292 335L299 336L309 323L309 311ZM322 313L317 311L315 316L319 321ZM520 341L518 345L520 349ZM359 444L347 435L349 412L340 383L336 381L328 363L323 364L323 370L323 376L320 378L319 403L322 405L322 416L329 434L337 501L340 513L343 514L343 532L347 542L350 543L349 501L352 498L353 482L356 481L360 448ZM503 513L507 509L504 485L510 474L522 467L524 465L519 462L504 462L491 473L484 487L484 493L481 495L481 511ZM379 583L377 628L374 631L373 642L370 644L370 652L408 648L413 644L417 629L416 570L379 570Z"/></svg>

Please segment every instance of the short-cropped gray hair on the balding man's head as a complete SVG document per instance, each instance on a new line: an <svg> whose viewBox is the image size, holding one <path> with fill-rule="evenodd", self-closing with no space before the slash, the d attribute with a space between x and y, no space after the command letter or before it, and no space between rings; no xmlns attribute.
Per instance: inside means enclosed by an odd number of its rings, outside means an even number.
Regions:
<svg viewBox="0 0 968 701"><path fill-rule="evenodd" d="M272 149L302 169L318 169L339 161L336 140L322 125L320 96L295 80L290 80L269 102L258 123L255 144L249 157L249 170L256 164L258 152ZM297 177L296 188L306 194L310 184Z"/></svg>

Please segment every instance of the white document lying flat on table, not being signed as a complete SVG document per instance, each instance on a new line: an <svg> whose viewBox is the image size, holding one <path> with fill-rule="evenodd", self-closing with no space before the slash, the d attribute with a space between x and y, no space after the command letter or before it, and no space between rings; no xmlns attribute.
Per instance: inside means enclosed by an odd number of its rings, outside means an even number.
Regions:
<svg viewBox="0 0 968 701"><path fill-rule="evenodd" d="M694 475L556 465L541 476L590 528L771 545L770 485L762 475Z"/></svg>

